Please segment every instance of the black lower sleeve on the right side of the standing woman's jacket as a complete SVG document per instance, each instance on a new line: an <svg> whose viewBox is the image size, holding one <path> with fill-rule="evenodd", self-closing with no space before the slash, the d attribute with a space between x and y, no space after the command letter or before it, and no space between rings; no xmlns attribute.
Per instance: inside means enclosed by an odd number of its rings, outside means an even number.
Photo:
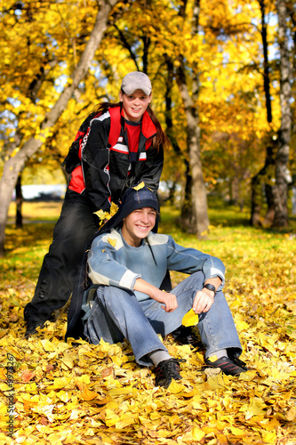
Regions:
<svg viewBox="0 0 296 445"><path fill-rule="evenodd" d="M162 174L164 166L164 149L160 147L158 152L152 146L147 150L147 160L141 173L140 181L153 190L155 193L158 190L160 175Z"/></svg>

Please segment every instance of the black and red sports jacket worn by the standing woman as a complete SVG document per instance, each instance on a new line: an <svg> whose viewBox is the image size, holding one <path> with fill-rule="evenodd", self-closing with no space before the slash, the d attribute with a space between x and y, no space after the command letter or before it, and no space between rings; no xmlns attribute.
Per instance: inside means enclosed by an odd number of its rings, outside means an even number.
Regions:
<svg viewBox="0 0 296 445"><path fill-rule="evenodd" d="M153 147L155 134L156 126L145 111L137 161L131 169L123 110L115 107L92 113L81 125L62 164L71 174L68 189L77 193L86 190L93 211L108 211L111 201L118 204L124 191L141 181L156 192L164 150Z"/></svg>

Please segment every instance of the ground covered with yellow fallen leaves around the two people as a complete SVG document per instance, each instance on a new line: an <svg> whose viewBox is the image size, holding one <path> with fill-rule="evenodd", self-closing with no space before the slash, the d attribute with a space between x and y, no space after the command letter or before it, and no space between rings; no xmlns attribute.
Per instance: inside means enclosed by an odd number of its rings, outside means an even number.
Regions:
<svg viewBox="0 0 296 445"><path fill-rule="evenodd" d="M67 308L24 338L23 307L51 231L50 223L10 228L0 262L0 444L296 444L292 233L217 226L197 240L172 228L181 244L226 263L225 294L250 370L239 377L205 373L202 345L169 336L164 344L186 363L182 380L164 390L134 362L129 344L65 343ZM172 274L173 284L179 279Z"/></svg>

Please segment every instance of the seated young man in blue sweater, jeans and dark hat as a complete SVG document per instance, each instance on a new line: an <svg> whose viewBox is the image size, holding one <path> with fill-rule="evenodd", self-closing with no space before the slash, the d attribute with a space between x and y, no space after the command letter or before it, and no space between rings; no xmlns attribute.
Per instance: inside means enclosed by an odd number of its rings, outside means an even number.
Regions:
<svg viewBox="0 0 296 445"><path fill-rule="evenodd" d="M179 328L185 313L193 309L199 314L206 364L225 374L245 372L244 362L238 360L242 347L221 291L223 263L154 233L158 210L154 192L141 183L126 191L117 213L93 239L88 273L99 287L92 303L80 304L84 336L92 344L100 338L110 344L126 338L135 360L155 365L156 385L167 388L172 378L181 378L182 360L171 357L157 334L166 336ZM159 289L167 270L190 277L167 293Z"/></svg>

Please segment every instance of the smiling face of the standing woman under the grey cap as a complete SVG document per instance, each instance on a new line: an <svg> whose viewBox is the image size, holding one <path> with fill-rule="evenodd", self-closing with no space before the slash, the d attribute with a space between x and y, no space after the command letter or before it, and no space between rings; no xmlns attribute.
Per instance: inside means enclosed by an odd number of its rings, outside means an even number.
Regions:
<svg viewBox="0 0 296 445"><path fill-rule="evenodd" d="M151 101L151 94L147 96L142 90L136 90L134 93L127 95L121 91L119 98L124 105L125 119L131 122L140 122Z"/></svg>

